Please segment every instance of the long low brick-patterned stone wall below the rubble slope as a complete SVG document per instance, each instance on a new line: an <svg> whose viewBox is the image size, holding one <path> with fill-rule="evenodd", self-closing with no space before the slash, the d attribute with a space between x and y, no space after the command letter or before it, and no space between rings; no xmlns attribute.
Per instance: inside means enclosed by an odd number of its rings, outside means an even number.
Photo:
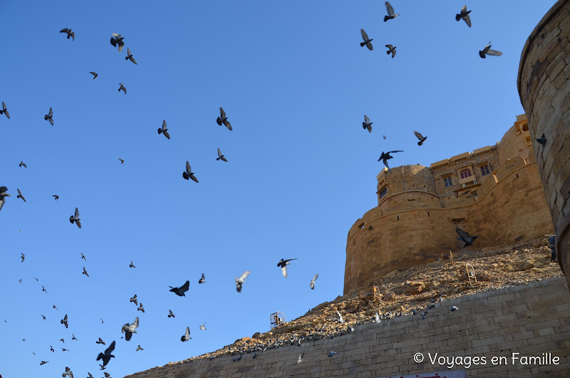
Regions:
<svg viewBox="0 0 570 378"><path fill-rule="evenodd" d="M564 278L506 287L437 302L425 320L405 315L356 327L334 339L304 342L244 354L240 362L224 355L197 359L129 375L129 378L182 377L400 377L450 372L430 356L485 357L485 364L456 365L467 377L568 377L570 371L570 294ZM450 312L455 305L459 310ZM331 351L337 352L327 357ZM423 362L414 354L423 353ZM550 353L559 364L523 364L517 357ZM299 355L303 362L296 364ZM492 357L506 357L493 364ZM548 354L546 354L548 356ZM482 360L480 360L482 362ZM433 375L433 374L431 374Z"/></svg>

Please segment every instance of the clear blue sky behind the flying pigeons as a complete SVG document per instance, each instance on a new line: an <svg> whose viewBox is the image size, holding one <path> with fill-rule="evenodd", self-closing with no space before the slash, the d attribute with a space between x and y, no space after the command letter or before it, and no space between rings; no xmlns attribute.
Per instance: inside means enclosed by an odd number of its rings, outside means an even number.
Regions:
<svg viewBox="0 0 570 378"><path fill-rule="evenodd" d="M98 337L117 341L105 372L122 377L342 295L346 235L377 205L380 153L429 165L493 145L524 113L520 54L554 1L476 1L471 29L455 21L463 4L393 0L400 16L383 22L383 1L2 1L2 377L102 377ZM489 41L503 56L479 57ZM186 160L199 183L182 178ZM281 258L299 259L287 278ZM186 297L168 291L186 280ZM120 339L136 316L138 334Z"/></svg>

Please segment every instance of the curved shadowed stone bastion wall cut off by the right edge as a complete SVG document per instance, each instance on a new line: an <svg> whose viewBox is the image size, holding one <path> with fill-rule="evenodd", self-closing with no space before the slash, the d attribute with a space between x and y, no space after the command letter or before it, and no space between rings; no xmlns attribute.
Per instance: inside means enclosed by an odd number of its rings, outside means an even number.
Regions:
<svg viewBox="0 0 570 378"><path fill-rule="evenodd" d="M556 251L570 282L570 2L546 13L522 50L517 85L551 211ZM546 136L544 147L535 142Z"/></svg>

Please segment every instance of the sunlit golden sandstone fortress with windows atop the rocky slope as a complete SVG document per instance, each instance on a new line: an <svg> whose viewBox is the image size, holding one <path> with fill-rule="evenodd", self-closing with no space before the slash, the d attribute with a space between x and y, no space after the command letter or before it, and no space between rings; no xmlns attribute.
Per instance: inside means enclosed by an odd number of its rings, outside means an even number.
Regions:
<svg viewBox="0 0 570 378"><path fill-rule="evenodd" d="M378 207L348 231L344 294L448 256L463 245L456 227L479 235L477 248L554 233L524 115L496 145L377 178Z"/></svg>

